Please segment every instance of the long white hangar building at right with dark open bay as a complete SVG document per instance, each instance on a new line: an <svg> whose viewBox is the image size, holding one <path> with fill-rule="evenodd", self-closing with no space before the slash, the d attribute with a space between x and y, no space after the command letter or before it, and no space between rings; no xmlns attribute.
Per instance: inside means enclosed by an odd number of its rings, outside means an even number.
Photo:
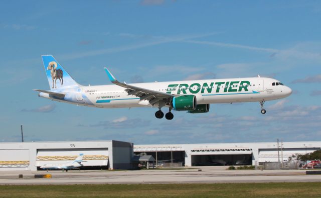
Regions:
<svg viewBox="0 0 321 198"><path fill-rule="evenodd" d="M134 145L134 153L146 153L156 163L199 165L259 165L262 162L288 160L293 154L319 150L321 141L262 143L198 143Z"/></svg>

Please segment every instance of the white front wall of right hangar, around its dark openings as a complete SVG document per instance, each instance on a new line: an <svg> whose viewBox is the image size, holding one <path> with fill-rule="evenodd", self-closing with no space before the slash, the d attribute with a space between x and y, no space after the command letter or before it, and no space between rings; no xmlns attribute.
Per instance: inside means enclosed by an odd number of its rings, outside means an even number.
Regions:
<svg viewBox="0 0 321 198"><path fill-rule="evenodd" d="M283 150L283 158L281 147ZM134 152L148 151L175 151L185 150L185 166L192 166L192 155L220 155L220 154L252 154L252 165L262 161L280 161L288 159L292 154L305 154L320 149L321 141L296 141L279 143L279 156L277 142L259 143L202 143L202 144L149 144L134 145ZM198 150L195 152L195 150Z"/></svg>

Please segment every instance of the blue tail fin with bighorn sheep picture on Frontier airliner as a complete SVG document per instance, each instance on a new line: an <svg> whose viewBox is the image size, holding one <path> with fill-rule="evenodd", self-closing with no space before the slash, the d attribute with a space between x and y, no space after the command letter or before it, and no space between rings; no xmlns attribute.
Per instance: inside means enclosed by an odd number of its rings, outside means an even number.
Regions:
<svg viewBox="0 0 321 198"><path fill-rule="evenodd" d="M52 55L42 55L41 57L45 66L50 89L79 86Z"/></svg>

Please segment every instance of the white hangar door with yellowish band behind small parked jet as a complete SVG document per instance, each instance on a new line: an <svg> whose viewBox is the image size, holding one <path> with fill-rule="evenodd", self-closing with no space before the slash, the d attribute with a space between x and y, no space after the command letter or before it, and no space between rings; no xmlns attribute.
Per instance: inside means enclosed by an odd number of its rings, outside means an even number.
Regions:
<svg viewBox="0 0 321 198"><path fill-rule="evenodd" d="M37 149L36 166L48 163L66 163L83 153L84 166L107 166L108 148Z"/></svg>

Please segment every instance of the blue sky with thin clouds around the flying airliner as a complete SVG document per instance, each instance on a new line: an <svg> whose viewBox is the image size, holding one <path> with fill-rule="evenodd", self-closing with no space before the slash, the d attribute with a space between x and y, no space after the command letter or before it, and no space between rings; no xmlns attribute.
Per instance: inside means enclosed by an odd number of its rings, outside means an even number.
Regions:
<svg viewBox="0 0 321 198"><path fill-rule="evenodd" d="M148 143L321 139L321 2L109 0L6 1L0 6L0 141L124 140ZM38 97L49 89L41 55L79 83L260 74L293 89L285 99L211 104L210 112L101 109Z"/></svg>

